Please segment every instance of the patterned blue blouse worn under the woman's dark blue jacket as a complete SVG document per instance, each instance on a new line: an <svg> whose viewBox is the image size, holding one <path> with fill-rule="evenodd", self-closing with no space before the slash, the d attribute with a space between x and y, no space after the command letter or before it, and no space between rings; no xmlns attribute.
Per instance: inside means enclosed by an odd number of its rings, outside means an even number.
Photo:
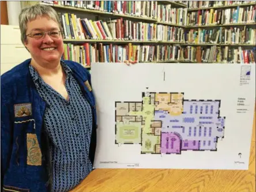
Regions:
<svg viewBox="0 0 256 192"><path fill-rule="evenodd" d="M29 65L39 95L47 103L44 126L50 138L54 192L69 191L91 171L89 146L92 132L92 111L82 95L71 69L61 62L66 73L69 100L46 84L34 67Z"/></svg>

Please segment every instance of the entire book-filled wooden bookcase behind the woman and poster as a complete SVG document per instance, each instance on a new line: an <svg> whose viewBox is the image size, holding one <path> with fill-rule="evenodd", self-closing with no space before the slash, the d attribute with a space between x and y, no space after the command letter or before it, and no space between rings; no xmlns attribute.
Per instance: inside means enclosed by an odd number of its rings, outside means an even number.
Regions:
<svg viewBox="0 0 256 192"><path fill-rule="evenodd" d="M255 63L254 1L24 1L22 6L35 3L57 10L63 29L63 20L71 17L63 40L70 48L65 59L81 61L89 50L89 63L126 59L154 63ZM81 21L84 18L87 20ZM84 37L75 34L73 22L77 22L78 31L78 23L84 22L80 25ZM81 58L69 55L74 47L77 52L85 52ZM89 63L84 61L83 65L89 68Z"/></svg>

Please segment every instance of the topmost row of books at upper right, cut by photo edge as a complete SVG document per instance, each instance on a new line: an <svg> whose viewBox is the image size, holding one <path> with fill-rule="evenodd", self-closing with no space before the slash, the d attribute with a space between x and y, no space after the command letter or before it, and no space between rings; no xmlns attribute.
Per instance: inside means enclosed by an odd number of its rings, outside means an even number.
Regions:
<svg viewBox="0 0 256 192"><path fill-rule="evenodd" d="M255 3L255 1L188 1L189 9L221 7L227 5L243 5L247 3Z"/></svg>

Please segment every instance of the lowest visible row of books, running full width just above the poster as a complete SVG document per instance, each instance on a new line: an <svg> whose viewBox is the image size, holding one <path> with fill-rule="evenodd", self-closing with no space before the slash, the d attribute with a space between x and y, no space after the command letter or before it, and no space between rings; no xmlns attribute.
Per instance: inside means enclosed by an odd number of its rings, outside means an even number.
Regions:
<svg viewBox="0 0 256 192"><path fill-rule="evenodd" d="M180 47L170 45L140 46L135 44L64 44L62 59L68 59L89 67L91 62L197 62L197 63L253 63L256 48L251 50L228 46Z"/></svg>

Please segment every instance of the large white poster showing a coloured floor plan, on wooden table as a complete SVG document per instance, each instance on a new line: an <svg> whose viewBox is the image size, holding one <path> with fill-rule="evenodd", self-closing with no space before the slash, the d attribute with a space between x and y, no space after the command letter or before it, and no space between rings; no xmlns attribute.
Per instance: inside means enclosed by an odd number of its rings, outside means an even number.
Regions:
<svg viewBox="0 0 256 192"><path fill-rule="evenodd" d="M95 168L246 170L255 65L93 63Z"/></svg>

